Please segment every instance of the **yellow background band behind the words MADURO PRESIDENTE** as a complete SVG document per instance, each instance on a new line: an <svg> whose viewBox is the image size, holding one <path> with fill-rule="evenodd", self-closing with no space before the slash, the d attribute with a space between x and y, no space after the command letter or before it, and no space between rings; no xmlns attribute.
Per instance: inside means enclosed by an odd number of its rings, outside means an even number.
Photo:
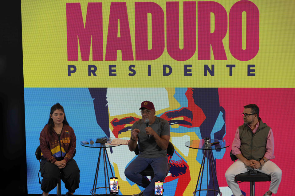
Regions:
<svg viewBox="0 0 295 196"><path fill-rule="evenodd" d="M259 9L260 35L258 54L250 61L236 60L229 51L229 11L237 1L216 1L228 15L228 31L223 39L227 61L198 61L198 48L195 55L187 61L176 61L166 50L166 1L155 1L165 14L165 50L160 58L153 61L122 61L117 52L117 61L90 60L67 61L66 3L80 2L85 24L87 3L99 1L22 1L22 41L24 61L24 87L295 87L294 51L295 2L252 1ZM111 1L101 1L103 6L104 56L108 34L108 19ZM134 1L126 2L129 27L135 59ZM136 1L138 2L138 1ZM197 8L196 8L197 9ZM197 12L197 10L196 10ZM179 1L180 39L183 37L183 1ZM197 18L196 18L197 21ZM148 22L151 24L151 22ZM212 23L211 23L212 24ZM214 23L213 23L214 25ZM151 27L149 26L149 30ZM149 42L151 35L149 34ZM181 43L181 41L180 41ZM198 46L198 44L196 44ZM180 44L181 46L181 44ZM79 48L79 45L78 45ZM212 60L213 59L213 60ZM13 59L11 59L13 60ZM163 76L163 64L173 71ZM184 65L192 65L192 76L184 76ZM204 64L214 64L215 74L204 76ZM229 76L227 64L235 64L233 76ZM247 65L255 64L256 76L247 76ZM76 73L68 76L68 65L77 67ZM88 65L97 67L96 77L88 76ZM116 65L116 75L109 76L109 65ZM135 65L135 76L128 76L129 65ZM151 65L151 76L148 76Z"/></svg>

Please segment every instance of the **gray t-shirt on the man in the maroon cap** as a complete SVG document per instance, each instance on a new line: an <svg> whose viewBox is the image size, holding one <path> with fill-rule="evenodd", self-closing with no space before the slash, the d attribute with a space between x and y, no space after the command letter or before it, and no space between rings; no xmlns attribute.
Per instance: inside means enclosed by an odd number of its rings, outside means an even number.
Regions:
<svg viewBox="0 0 295 196"><path fill-rule="evenodd" d="M143 158L157 158L157 157L166 157L167 150L162 150L156 143L153 136L148 139L148 135L145 131L147 127L143 119L136 121L132 125L133 129L139 129L138 133L138 146L139 146L139 157ZM170 125L167 120L159 118L156 116L155 122L150 125L150 127L161 137L162 135L170 136Z"/></svg>

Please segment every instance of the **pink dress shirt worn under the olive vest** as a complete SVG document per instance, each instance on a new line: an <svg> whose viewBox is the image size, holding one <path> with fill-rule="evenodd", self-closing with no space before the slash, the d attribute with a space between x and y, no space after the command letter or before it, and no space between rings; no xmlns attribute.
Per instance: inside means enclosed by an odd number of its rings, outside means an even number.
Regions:
<svg viewBox="0 0 295 196"><path fill-rule="evenodd" d="M256 124L256 128L254 130L251 129L253 133L255 133L257 131L257 129L259 127L259 123L260 123L260 121ZM234 135L233 144L231 145L231 153L233 153L233 155L242 154L240 151L240 147L241 147L241 139L240 139L239 128L237 128L236 134ZM273 131L270 129L268 136L267 136L266 152L265 152L264 156L268 159L273 159L275 157L273 155L273 153L274 153Z"/></svg>

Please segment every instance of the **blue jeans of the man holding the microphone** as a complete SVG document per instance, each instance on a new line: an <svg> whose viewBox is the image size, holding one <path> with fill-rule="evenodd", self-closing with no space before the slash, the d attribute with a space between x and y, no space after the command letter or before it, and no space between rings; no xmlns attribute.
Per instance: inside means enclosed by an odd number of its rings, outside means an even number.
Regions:
<svg viewBox="0 0 295 196"><path fill-rule="evenodd" d="M150 182L144 176L140 175L139 172L143 171L148 165L154 170L155 177ZM125 176L136 183L138 186L144 187L144 196L154 195L155 190L155 180L163 180L166 177L168 169L167 157L158 158L141 158L136 157L128 167L125 169Z"/></svg>

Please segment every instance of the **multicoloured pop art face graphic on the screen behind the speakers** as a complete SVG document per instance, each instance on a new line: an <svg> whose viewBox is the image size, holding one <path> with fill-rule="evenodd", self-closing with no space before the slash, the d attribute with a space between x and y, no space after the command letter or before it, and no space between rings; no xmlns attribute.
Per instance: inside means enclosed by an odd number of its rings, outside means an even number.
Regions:
<svg viewBox="0 0 295 196"><path fill-rule="evenodd" d="M189 195L195 190L203 152L189 149L184 143L205 137L223 139L225 111L219 105L217 88L89 88L89 92L94 99L96 121L108 137L129 139L132 124L142 118L141 102L153 102L155 115L170 124L170 141L175 147L164 182L165 194ZM140 192L143 188L124 175L125 168L135 158L134 152L130 152L127 145L116 148L110 148L108 153L120 181L120 191L124 195ZM225 149L221 149L213 155L220 159L224 153ZM206 173L203 176L207 176ZM205 186L203 183L202 189L207 188ZM212 186L209 179L209 189Z"/></svg>

